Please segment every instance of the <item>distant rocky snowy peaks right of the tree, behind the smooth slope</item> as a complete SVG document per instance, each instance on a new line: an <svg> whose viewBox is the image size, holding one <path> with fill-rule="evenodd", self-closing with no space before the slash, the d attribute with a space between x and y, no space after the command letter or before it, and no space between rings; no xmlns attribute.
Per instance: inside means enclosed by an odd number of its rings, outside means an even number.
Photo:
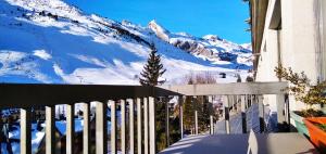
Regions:
<svg viewBox="0 0 326 154"><path fill-rule="evenodd" d="M226 61L235 64L236 67L248 68L248 65L251 63L250 59L248 59L251 55L250 43L239 46L224 40L216 35L206 35L203 38L196 38L185 33L172 34L155 21L149 23L149 28L162 40L198 57L211 61L213 64L220 64L220 61L224 61L225 64Z"/></svg>

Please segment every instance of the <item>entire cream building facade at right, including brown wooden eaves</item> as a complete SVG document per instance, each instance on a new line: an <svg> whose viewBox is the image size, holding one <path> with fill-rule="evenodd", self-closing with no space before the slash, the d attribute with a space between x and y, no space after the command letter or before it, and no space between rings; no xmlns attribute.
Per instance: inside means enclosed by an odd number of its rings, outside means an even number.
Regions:
<svg viewBox="0 0 326 154"><path fill-rule="evenodd" d="M275 67L304 72L312 84L326 79L326 1L249 0L255 81L278 81ZM264 95L264 103L276 103ZM290 110L303 103L289 97ZM318 106L317 106L318 107Z"/></svg>

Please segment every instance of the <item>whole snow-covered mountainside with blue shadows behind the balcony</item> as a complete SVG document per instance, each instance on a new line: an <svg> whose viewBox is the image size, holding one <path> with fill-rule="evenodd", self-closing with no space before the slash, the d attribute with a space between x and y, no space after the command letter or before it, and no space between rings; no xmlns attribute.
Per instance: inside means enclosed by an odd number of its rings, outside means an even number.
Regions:
<svg viewBox="0 0 326 154"><path fill-rule="evenodd" d="M0 1L0 81L138 85L149 44L162 54L167 84L210 72L236 81L251 68L250 44L170 33L88 15L61 0Z"/></svg>

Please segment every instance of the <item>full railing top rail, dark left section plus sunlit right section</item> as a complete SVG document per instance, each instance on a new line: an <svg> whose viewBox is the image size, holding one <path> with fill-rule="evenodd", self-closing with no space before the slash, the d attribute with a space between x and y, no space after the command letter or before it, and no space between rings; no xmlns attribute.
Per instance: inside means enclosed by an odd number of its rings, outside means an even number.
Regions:
<svg viewBox="0 0 326 154"><path fill-rule="evenodd" d="M179 86L0 84L0 107L28 107L78 102L167 95L283 94L288 82L237 82Z"/></svg>

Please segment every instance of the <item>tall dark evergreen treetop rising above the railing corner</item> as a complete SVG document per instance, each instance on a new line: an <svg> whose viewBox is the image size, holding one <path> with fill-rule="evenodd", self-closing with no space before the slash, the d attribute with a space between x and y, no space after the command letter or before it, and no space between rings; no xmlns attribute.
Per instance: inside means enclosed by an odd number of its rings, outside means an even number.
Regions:
<svg viewBox="0 0 326 154"><path fill-rule="evenodd" d="M151 52L147 60L147 64L143 66L142 73L140 73L141 78L139 79L139 82L142 86L162 85L165 80L159 80L159 77L161 77L166 69L164 69L163 64L161 64L161 55L156 53L158 50L154 44L151 44L150 48Z"/></svg>

